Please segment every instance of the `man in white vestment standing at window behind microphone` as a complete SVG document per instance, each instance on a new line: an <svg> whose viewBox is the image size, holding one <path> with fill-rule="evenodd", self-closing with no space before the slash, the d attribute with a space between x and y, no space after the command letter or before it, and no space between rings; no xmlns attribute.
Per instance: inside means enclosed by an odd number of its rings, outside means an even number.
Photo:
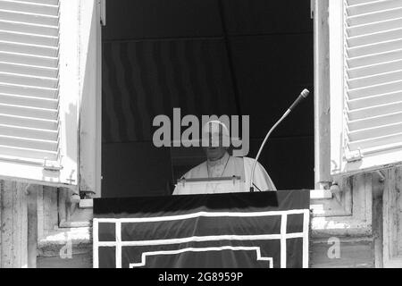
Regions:
<svg viewBox="0 0 402 286"><path fill-rule="evenodd" d="M209 138L208 147L204 147L206 161L197 165L190 171L185 173L181 179L203 179L205 183L198 186L189 186L184 182L176 185L173 195L189 195L189 194L211 194L226 192L242 192L249 191L251 169L255 162L254 159L248 157L230 156L228 147L225 147L224 139L229 139L229 130L219 121L207 122L203 128L203 138ZM205 134L206 133L206 134ZM229 178L239 177L239 188L228 188L228 183L219 181L208 181L212 178ZM255 165L254 176L255 191L258 190L276 190L271 177L265 171L263 165Z"/></svg>

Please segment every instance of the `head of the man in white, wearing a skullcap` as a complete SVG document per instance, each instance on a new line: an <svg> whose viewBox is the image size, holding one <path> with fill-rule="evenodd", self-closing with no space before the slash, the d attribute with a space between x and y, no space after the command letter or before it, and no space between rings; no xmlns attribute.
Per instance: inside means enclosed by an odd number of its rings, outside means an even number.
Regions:
<svg viewBox="0 0 402 286"><path fill-rule="evenodd" d="M205 142L205 140L207 140ZM203 147L208 161L222 158L230 146L229 130L220 121L206 122L203 127Z"/></svg>

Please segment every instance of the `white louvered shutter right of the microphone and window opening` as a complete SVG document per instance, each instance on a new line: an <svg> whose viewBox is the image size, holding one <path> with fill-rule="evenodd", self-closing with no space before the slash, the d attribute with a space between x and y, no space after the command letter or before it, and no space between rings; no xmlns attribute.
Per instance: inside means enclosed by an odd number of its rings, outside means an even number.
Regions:
<svg viewBox="0 0 402 286"><path fill-rule="evenodd" d="M331 130L331 144L339 151L332 156L332 172L397 164L402 161L402 0L345 0L332 3L332 9L330 17L339 17L339 24L330 21L330 54L340 62L331 62L331 125L338 125L338 132Z"/></svg>

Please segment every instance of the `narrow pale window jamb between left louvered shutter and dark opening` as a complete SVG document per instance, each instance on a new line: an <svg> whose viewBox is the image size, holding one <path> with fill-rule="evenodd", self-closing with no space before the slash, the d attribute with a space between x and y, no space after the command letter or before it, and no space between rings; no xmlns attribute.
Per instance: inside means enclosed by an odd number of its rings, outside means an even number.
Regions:
<svg viewBox="0 0 402 286"><path fill-rule="evenodd" d="M105 0L80 1L80 191L101 197ZM94 72L94 68L96 72Z"/></svg>

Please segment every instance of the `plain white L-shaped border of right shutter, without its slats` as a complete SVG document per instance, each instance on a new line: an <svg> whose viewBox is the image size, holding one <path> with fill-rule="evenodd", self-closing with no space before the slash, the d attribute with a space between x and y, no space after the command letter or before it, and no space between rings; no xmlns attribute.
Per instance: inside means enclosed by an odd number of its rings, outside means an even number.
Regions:
<svg viewBox="0 0 402 286"><path fill-rule="evenodd" d="M379 150L362 157L347 159L356 154L349 154L346 148L345 101L347 86L345 84L345 24L346 6L344 0L331 0L329 3L330 26L330 94L331 94L331 176L352 175L360 172L372 172L389 166L398 166L402 160L402 148ZM339 100L340 95L341 100Z"/></svg>

